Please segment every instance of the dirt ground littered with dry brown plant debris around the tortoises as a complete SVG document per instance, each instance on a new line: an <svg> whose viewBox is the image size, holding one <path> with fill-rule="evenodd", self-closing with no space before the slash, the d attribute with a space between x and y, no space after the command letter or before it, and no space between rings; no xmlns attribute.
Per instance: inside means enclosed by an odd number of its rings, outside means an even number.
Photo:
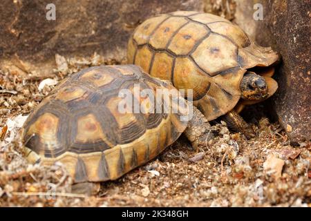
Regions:
<svg viewBox="0 0 311 221"><path fill-rule="evenodd" d="M97 195L70 193L62 164L46 168L24 160L23 116L66 75L122 61L57 55L56 63L54 79L45 81L18 68L0 70L0 206L311 206L310 144L290 146L262 104L244 111L257 133L252 140L216 122L216 137L198 150L181 136L155 160L104 182Z"/></svg>

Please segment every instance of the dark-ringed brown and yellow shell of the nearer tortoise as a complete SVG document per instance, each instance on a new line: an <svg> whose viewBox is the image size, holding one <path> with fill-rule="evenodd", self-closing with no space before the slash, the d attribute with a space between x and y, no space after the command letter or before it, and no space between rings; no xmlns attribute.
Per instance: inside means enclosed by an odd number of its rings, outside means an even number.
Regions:
<svg viewBox="0 0 311 221"><path fill-rule="evenodd" d="M133 105L156 108L148 105L151 97L133 93L137 84L140 92L149 89L154 99L156 90L176 90L133 65L87 68L64 79L23 126L28 160L44 165L62 162L78 183L115 180L156 157L187 127L180 117L188 106L182 98L183 104L174 99L165 103L175 105L176 113L119 111L122 89L129 89ZM164 101L159 105L163 108Z"/></svg>

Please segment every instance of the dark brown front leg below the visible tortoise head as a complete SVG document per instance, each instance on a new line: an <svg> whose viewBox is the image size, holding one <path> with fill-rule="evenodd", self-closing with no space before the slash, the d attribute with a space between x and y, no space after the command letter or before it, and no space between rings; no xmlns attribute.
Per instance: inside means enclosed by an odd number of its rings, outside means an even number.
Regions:
<svg viewBox="0 0 311 221"><path fill-rule="evenodd" d="M229 111L221 117L227 123L229 129L235 132L241 132L247 139L255 137L253 129L245 122L245 120L236 111Z"/></svg>

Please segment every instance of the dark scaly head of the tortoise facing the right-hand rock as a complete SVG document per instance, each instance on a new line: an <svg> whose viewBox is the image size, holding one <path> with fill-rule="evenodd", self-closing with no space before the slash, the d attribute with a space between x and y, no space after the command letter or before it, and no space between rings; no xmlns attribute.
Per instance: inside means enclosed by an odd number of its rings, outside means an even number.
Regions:
<svg viewBox="0 0 311 221"><path fill-rule="evenodd" d="M247 72L240 83L242 98L260 101L270 97L268 83L265 77L253 72Z"/></svg>

